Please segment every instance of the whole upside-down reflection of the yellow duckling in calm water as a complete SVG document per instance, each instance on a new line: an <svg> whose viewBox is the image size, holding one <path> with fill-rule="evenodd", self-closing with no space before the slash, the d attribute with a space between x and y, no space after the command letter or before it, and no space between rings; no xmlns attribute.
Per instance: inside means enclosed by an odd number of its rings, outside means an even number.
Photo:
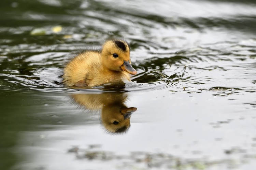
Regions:
<svg viewBox="0 0 256 170"><path fill-rule="evenodd" d="M90 110L101 110L101 120L107 131L112 133L126 132L130 127L131 114L136 107L127 107L126 93L75 94L76 103Z"/></svg>

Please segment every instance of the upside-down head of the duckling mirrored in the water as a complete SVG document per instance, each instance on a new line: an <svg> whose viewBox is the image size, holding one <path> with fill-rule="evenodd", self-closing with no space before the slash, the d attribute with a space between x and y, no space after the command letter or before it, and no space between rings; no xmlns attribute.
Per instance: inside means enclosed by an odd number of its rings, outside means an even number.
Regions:
<svg viewBox="0 0 256 170"><path fill-rule="evenodd" d="M125 133L130 127L130 117L136 107L126 107L124 104L111 104L102 108L101 120L106 131L110 133Z"/></svg>

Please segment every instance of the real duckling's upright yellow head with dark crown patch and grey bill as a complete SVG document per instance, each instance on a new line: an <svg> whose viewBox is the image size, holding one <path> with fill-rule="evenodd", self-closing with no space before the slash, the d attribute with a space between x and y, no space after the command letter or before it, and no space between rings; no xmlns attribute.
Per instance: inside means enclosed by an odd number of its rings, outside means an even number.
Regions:
<svg viewBox="0 0 256 170"><path fill-rule="evenodd" d="M130 60L130 47L121 39L108 40L102 46L101 61L104 69L111 71L126 71L137 74L132 68Z"/></svg>

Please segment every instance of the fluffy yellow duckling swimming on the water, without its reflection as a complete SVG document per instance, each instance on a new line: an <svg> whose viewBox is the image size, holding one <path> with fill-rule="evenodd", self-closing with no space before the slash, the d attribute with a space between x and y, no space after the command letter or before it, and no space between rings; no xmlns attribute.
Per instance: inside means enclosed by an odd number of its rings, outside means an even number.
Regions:
<svg viewBox="0 0 256 170"><path fill-rule="evenodd" d="M132 68L130 48L121 39L106 41L101 51L86 51L74 57L65 67L63 83L66 86L93 87L103 84L123 84L130 81Z"/></svg>

